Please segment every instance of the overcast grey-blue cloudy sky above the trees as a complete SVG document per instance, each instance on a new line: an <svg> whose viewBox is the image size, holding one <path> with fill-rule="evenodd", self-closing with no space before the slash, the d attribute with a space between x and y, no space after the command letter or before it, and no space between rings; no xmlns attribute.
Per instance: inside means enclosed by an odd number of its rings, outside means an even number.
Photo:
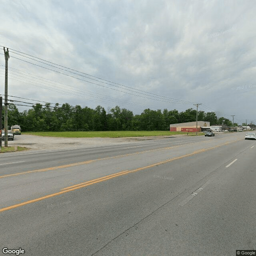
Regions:
<svg viewBox="0 0 256 256"><path fill-rule="evenodd" d="M118 105L134 114L202 103L198 110L256 123L254 0L0 0L0 6L0 94L6 46L11 96L106 111Z"/></svg>

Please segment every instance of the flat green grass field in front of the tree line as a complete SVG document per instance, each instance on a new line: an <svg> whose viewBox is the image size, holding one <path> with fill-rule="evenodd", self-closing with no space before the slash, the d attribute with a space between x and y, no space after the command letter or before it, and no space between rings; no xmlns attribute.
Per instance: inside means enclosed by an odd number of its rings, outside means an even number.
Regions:
<svg viewBox="0 0 256 256"><path fill-rule="evenodd" d="M66 137L66 138L121 138L121 137L137 137L137 136L170 136L176 134L187 134L186 132L170 132L170 131L107 131L107 132L23 132L22 134L32 134L47 137ZM196 135L189 132L188 135ZM204 135L198 133L198 135Z"/></svg>

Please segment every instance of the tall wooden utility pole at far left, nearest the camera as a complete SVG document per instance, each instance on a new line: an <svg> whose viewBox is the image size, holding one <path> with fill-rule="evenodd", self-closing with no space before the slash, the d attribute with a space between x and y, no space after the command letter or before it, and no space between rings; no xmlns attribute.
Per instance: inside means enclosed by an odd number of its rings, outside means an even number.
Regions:
<svg viewBox="0 0 256 256"><path fill-rule="evenodd" d="M9 49L4 47L5 57L5 82L4 82L4 146L8 147L8 59ZM2 140L2 138L1 138Z"/></svg>

